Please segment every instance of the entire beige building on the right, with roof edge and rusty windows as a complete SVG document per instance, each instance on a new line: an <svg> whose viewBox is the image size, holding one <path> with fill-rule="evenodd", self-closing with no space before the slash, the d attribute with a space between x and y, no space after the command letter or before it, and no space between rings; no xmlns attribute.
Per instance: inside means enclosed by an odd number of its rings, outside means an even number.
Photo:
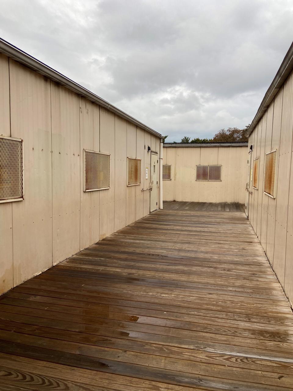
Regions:
<svg viewBox="0 0 293 391"><path fill-rule="evenodd" d="M293 44L247 130L246 211L293 303Z"/></svg>

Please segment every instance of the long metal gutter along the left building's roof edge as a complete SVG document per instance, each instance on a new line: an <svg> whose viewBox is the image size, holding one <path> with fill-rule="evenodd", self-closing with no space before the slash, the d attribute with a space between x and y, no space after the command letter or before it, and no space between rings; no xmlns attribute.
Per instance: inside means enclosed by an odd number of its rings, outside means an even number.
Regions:
<svg viewBox="0 0 293 391"><path fill-rule="evenodd" d="M117 107L113 106L111 103L107 102L106 100L98 97L98 95L95 95L91 91L87 90L86 88L80 86L80 84L75 83L73 80L68 79L68 77L64 76L60 72L57 72L50 66L42 63L38 59L30 56L29 54L23 52L23 50L20 50L16 46L12 45L11 43L5 41L4 39L0 38L0 53L5 54L7 57L10 57L19 63L28 66L29 68L33 69L34 71L38 72L39 74L42 74L49 79L62 84L63 86L66 86L69 90L74 91L78 95L81 95L92 102L97 103L98 105L108 109L114 114L119 115L120 117L124 118L125 120L132 122L132 124L141 127L141 129L146 130L149 133L152 133L152 135L155 135L157 137L161 137L162 135L158 132L156 132L154 129L151 129L145 124L142 124L135 118L131 117L129 114L125 113L124 111L121 111Z"/></svg>

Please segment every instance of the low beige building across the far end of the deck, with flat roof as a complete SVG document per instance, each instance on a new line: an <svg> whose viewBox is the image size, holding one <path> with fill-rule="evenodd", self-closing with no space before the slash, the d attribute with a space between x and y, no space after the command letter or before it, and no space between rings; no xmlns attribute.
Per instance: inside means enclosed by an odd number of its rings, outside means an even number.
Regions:
<svg viewBox="0 0 293 391"><path fill-rule="evenodd" d="M245 203L247 143L164 143L164 201Z"/></svg>

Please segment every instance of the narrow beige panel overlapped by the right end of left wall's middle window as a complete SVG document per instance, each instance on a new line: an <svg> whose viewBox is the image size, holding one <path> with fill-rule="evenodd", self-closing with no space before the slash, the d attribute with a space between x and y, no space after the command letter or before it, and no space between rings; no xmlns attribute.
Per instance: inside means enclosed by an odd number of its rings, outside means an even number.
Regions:
<svg viewBox="0 0 293 391"><path fill-rule="evenodd" d="M110 188L100 190L100 240L114 232L115 115L100 107L100 152L111 154Z"/></svg>

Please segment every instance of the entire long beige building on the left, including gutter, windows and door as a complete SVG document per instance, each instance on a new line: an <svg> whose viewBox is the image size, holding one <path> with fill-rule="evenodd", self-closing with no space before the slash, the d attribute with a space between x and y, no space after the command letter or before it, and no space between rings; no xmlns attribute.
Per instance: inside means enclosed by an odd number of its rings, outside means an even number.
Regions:
<svg viewBox="0 0 293 391"><path fill-rule="evenodd" d="M0 91L1 294L159 208L161 135L3 40Z"/></svg>

